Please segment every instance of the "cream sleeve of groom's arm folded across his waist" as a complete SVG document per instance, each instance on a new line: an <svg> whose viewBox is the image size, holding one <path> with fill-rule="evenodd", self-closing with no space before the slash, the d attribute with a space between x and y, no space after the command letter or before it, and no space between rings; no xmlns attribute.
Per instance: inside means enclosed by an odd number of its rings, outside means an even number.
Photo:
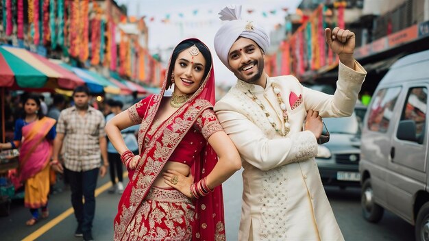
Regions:
<svg viewBox="0 0 429 241"><path fill-rule="evenodd" d="M243 114L229 107L222 109L218 109L216 114L226 134L234 142L241 157L260 170L308 160L317 155L317 140L310 131L271 140Z"/></svg>

